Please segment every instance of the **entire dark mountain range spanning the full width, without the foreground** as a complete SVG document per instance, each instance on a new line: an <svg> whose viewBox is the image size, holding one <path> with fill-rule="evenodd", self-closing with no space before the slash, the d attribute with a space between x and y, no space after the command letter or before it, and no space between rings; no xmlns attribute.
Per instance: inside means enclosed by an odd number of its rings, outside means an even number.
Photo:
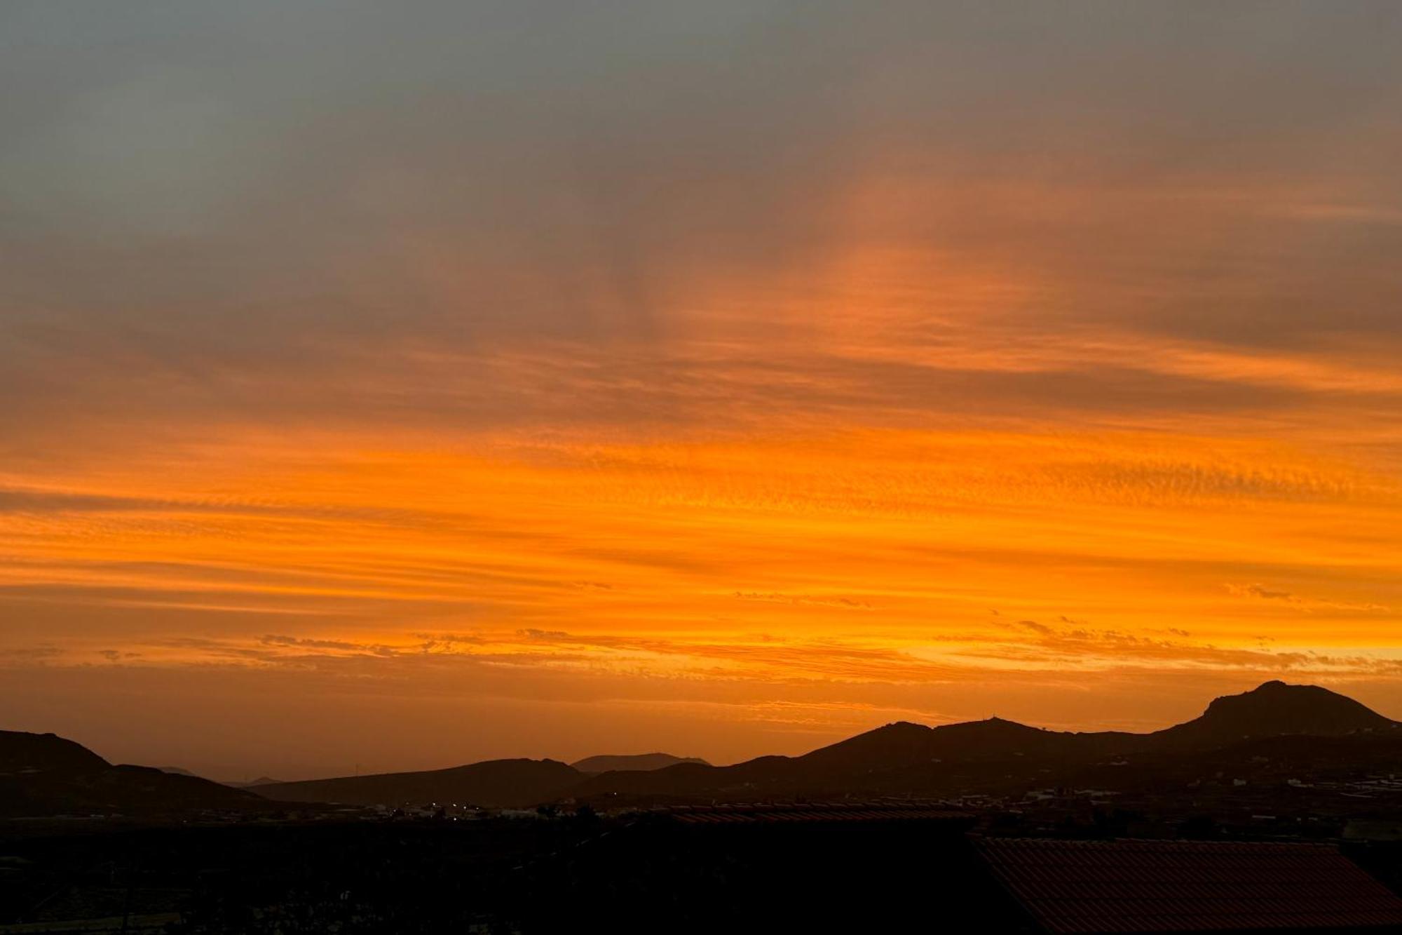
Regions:
<svg viewBox="0 0 1402 935"><path fill-rule="evenodd" d="M0 733L0 813L237 809L268 800L529 807L561 799L646 804L1005 795L1054 786L1180 790L1223 775L1284 783L1340 771L1388 774L1399 761L1402 724L1325 688L1272 681L1218 698L1193 720L1145 734L1056 731L1001 717L935 727L897 722L801 757L758 757L729 767L669 754L590 757L573 767L491 760L247 789L114 767L53 734Z"/></svg>

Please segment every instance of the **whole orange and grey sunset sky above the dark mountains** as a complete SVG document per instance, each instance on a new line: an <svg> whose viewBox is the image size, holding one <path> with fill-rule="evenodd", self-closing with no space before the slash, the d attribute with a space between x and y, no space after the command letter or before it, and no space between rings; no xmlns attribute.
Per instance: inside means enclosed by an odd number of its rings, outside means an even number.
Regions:
<svg viewBox="0 0 1402 935"><path fill-rule="evenodd" d="M1396 3L0 7L0 727L1402 717Z"/></svg>

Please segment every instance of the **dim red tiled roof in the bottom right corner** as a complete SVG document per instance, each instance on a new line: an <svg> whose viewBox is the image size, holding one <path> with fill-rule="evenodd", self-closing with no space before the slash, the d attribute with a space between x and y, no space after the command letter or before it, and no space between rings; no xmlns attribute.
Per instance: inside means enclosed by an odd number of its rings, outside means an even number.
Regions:
<svg viewBox="0 0 1402 935"><path fill-rule="evenodd" d="M1402 927L1402 898L1336 847L980 838L1049 932Z"/></svg>

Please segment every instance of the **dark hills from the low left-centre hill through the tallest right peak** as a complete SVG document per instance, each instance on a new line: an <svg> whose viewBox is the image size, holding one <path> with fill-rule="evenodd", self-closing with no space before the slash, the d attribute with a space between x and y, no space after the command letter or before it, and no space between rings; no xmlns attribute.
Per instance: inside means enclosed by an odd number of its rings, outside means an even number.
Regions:
<svg viewBox="0 0 1402 935"><path fill-rule="evenodd" d="M641 769L666 757L590 758L573 768L554 761L491 761L422 774L280 783L258 792L276 799L345 803L471 802L520 806L578 797L641 802L737 800L794 796L995 793L1036 782L1113 788L1186 781L1207 769L1259 757L1272 743L1280 762L1314 768L1332 738L1353 762L1387 761L1402 729L1359 702L1314 685L1266 682L1218 698L1202 716L1150 734L1070 733L1001 717L927 727L897 722L801 757L758 757L730 767L704 761ZM600 765L627 768L596 772ZM489 779L488 779L489 776Z"/></svg>

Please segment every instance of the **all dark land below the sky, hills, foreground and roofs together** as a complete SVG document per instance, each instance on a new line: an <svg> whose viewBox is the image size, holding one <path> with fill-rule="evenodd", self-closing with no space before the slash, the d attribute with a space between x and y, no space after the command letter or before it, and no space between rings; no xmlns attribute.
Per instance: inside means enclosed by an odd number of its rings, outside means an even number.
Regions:
<svg viewBox="0 0 1402 935"><path fill-rule="evenodd" d="M945 931L1398 931L1399 776L1395 722L1281 682L1154 734L897 723L733 767L252 789L7 733L0 931L913 931L914 904ZM1049 873L1081 876L1039 903Z"/></svg>

